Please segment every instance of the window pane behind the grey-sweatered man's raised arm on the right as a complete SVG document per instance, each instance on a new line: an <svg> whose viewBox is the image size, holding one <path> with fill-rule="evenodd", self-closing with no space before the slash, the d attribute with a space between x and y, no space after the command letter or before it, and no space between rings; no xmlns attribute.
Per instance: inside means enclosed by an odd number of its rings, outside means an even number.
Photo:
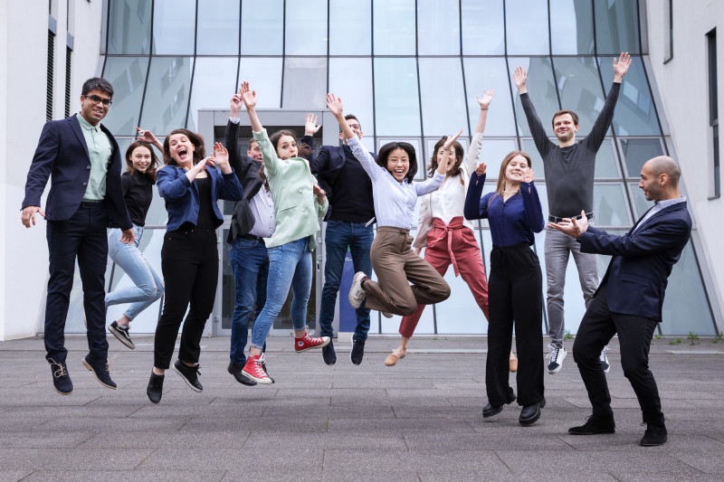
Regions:
<svg viewBox="0 0 724 482"><path fill-rule="evenodd" d="M598 58L601 77L604 79L606 89L609 89L614 81L613 59L614 56ZM614 129L618 136L661 135L641 57L633 57L631 67L621 84L621 93L614 113Z"/></svg>

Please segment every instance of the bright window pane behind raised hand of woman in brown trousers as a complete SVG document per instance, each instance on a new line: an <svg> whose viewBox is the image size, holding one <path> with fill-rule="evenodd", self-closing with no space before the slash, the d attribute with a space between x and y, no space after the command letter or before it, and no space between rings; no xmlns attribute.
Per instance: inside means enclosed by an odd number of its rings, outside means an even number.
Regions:
<svg viewBox="0 0 724 482"><path fill-rule="evenodd" d="M364 137L372 138L375 135L372 60L329 59L329 90L342 98L347 114L357 116Z"/></svg>

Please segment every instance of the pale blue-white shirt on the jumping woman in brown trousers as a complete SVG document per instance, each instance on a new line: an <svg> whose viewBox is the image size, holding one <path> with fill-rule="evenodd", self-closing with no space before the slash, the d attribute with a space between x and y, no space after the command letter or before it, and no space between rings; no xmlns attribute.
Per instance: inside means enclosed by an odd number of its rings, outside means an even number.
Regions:
<svg viewBox="0 0 724 482"><path fill-rule="evenodd" d="M385 167L376 164L357 137L348 139L347 144L372 180L377 227L413 229L417 197L436 191L445 176L434 173L433 177L421 183L408 183L407 179L398 183Z"/></svg>

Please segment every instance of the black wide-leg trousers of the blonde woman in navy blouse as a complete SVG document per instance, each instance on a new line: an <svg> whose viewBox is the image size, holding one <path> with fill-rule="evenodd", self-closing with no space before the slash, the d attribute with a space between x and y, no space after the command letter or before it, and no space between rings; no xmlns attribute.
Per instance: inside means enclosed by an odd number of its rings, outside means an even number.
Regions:
<svg viewBox="0 0 724 482"><path fill-rule="evenodd" d="M488 402L511 401L508 383L510 345L515 324L518 351L518 403L543 400L543 277L538 256L527 244L493 247L488 278Z"/></svg>

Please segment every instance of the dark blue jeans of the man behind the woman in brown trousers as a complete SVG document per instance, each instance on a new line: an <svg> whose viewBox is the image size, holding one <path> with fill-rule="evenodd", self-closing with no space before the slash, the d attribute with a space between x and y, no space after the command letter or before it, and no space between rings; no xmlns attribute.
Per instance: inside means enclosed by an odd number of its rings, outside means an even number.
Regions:
<svg viewBox="0 0 724 482"><path fill-rule="evenodd" d="M324 238L327 261L324 265L324 288L322 288L321 307L319 308L320 336L333 335L332 320L347 250L349 249L352 253L355 272L364 271L367 278L371 278L372 261L369 258L369 250L374 239L372 226L365 226L364 222L327 222L327 232ZM369 309L365 307L364 302L361 307L357 308L356 314L357 328L354 338L365 341L369 331Z"/></svg>

